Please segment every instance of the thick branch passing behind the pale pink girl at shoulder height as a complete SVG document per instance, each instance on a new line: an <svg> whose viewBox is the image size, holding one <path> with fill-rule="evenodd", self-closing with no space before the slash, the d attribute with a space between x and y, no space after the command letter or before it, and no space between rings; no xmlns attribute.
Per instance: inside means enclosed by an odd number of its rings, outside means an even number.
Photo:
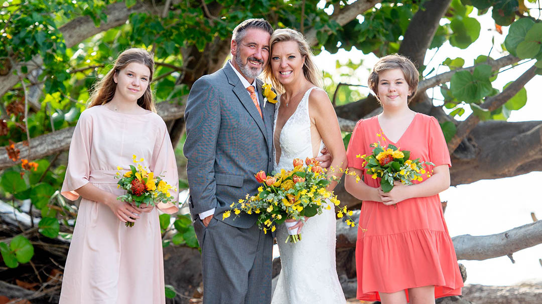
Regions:
<svg viewBox="0 0 542 304"><path fill-rule="evenodd" d="M156 105L156 108L158 115L162 116L164 121L175 120L184 115L184 105L161 102ZM69 149L74 128L75 127L64 128L52 133L34 137L32 138L29 147L24 146L22 143L15 144L15 147L21 150L21 155L28 154L29 161L59 153L60 151ZM31 151L30 154L29 150ZM10 160L7 153L0 154L0 169L14 166L14 164L17 163L19 162Z"/></svg>

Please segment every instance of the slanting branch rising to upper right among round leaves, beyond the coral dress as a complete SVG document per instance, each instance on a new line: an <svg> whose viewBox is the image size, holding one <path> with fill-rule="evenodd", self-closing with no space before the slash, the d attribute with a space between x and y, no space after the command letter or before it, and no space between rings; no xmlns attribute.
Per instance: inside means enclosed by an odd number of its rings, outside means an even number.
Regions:
<svg viewBox="0 0 542 304"><path fill-rule="evenodd" d="M498 109L501 105L505 104L510 98L514 97L517 92L525 86L525 84L530 81L535 74L536 67L531 67L524 72L517 80L508 85L508 87L502 91L500 94L487 97L486 101L481 105L481 108L493 111ZM480 122L480 118L476 115L470 114L470 116L461 122L457 127L457 131L453 138L448 142L448 151L453 153L453 151L459 146L464 137L466 137L474 127Z"/></svg>

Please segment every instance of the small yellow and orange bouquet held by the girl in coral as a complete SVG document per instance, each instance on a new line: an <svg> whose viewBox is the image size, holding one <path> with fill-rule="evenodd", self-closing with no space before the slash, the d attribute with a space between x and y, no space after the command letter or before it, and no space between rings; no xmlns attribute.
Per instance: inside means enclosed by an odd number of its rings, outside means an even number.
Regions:
<svg viewBox="0 0 542 304"><path fill-rule="evenodd" d="M377 134L381 137L382 134ZM382 137L385 141L385 138ZM421 162L420 158L410 160L410 151L402 151L401 149L388 144L384 148L380 142L372 143L372 154L369 156L356 155L357 158L363 158L363 163L367 173L372 174L373 179L380 177L380 187L382 191L389 192L393 189L393 181L401 181L403 184L411 185L412 181L422 181L423 175L426 174L424 164L435 166L432 162ZM427 173L427 177L431 174Z"/></svg>

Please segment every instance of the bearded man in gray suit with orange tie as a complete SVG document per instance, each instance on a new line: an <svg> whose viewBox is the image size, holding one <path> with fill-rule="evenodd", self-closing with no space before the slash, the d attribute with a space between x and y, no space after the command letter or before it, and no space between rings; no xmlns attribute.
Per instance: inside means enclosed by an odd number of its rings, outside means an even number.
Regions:
<svg viewBox="0 0 542 304"><path fill-rule="evenodd" d="M271 300L273 236L257 215L222 219L230 204L257 193L254 174L273 170L275 105L256 77L269 58L273 28L248 19L233 31L232 61L199 78L186 102L189 207L202 248L204 304L266 304ZM330 158L329 155L326 158Z"/></svg>

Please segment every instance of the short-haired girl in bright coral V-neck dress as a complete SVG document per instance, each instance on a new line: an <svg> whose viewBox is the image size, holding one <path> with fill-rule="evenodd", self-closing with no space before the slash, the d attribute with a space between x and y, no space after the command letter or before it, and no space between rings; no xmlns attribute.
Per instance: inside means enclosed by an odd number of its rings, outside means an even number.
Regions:
<svg viewBox="0 0 542 304"><path fill-rule="evenodd" d="M369 87L383 112L356 124L346 153L350 170L364 177L345 181L346 190L363 200L359 225L366 230L358 229L356 246L360 300L427 304L461 294L463 281L438 196L450 186L450 155L437 120L408 107L418 77L403 56L385 56L375 64ZM411 186L395 182L384 193L359 157L371 154L370 144L377 141L411 151L412 160L433 162L426 166L432 175Z"/></svg>

